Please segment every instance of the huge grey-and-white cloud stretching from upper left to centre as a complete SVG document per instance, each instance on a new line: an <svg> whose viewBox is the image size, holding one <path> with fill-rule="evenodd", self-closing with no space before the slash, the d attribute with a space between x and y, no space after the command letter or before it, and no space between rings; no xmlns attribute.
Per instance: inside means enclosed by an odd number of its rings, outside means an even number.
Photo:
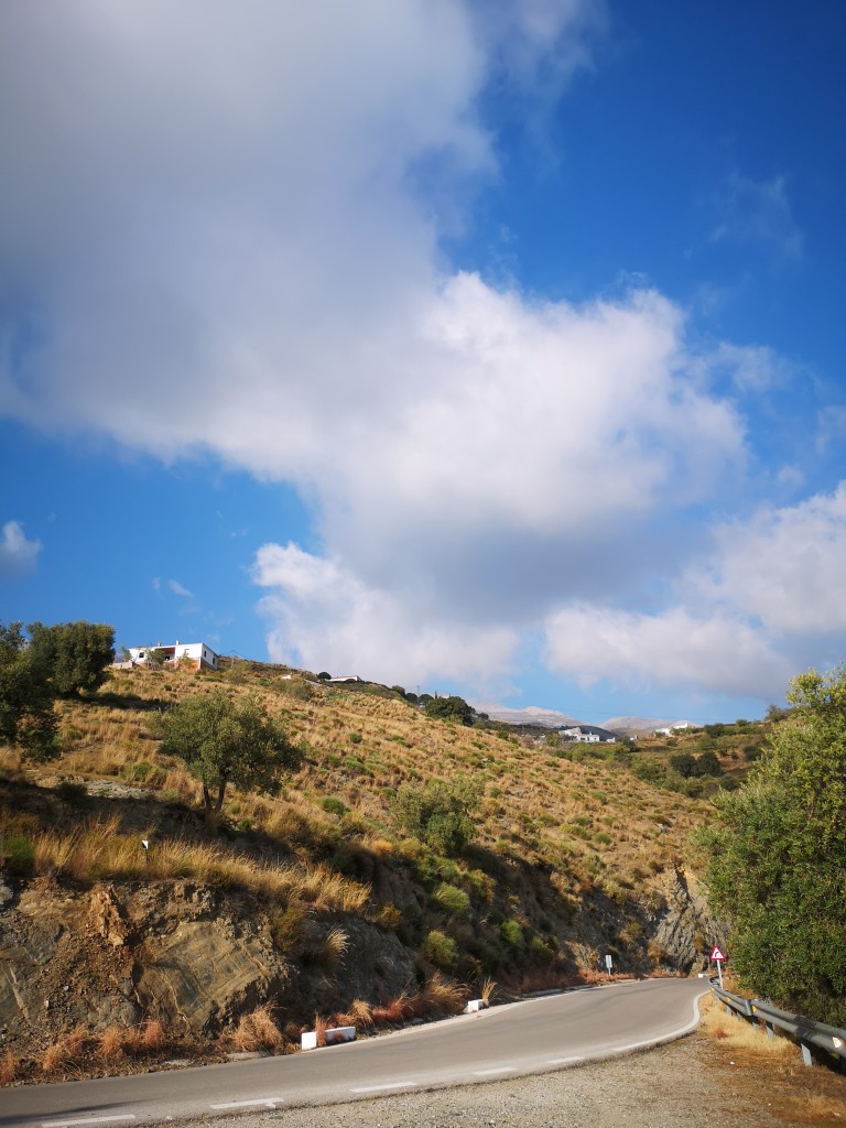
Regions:
<svg viewBox="0 0 846 1128"><path fill-rule="evenodd" d="M443 256L453 201L496 174L485 91L558 97L603 11L0 9L0 412L297 485L323 548L256 557L274 658L481 686L546 625L553 666L588 677L635 670L626 638L661 678L721 645L743 691L778 664L756 624L734 635L734 605L598 610L676 574L676 517L744 473L744 422L714 389L755 393L777 359L695 349L643 285L543 301ZM717 238L795 244L783 182L732 199ZM690 599L729 607L731 561ZM662 660L682 631L687 660Z"/></svg>

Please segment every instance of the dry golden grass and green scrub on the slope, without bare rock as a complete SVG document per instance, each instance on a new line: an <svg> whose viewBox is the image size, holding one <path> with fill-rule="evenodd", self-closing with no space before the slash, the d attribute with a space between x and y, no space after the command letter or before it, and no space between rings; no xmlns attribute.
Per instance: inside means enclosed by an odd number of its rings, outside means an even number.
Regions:
<svg viewBox="0 0 846 1128"><path fill-rule="evenodd" d="M656 929L677 910L673 891L696 887L687 843L712 804L632 763L676 772L680 742L556 747L543 731L477 714L467 723L455 700L439 716L429 706L440 698L412 698L239 660L219 672L111 670L97 688L54 699L55 758L0 747L5 878L17 890L108 883L130 897L147 884L156 896L173 887L177 900L190 889L246 898L297 981L316 984L319 998L334 984L340 1003L315 1016L314 1004L300 1013L259 998L266 1013L249 1019L247 1008L220 1031L230 1047L274 1052L344 1016L378 1026L453 1013L494 985L508 997L596 981L609 953L616 971L640 975L702 962L711 936L697 935L682 958ZM212 725L201 747L194 737L209 717L227 739ZM707 751L724 775L746 770L723 746L690 756ZM385 937L393 958L405 953L399 994L347 988L365 933ZM147 1060L142 1026L122 1029L116 1045ZM173 1056L179 1038L162 1029ZM72 1033L51 1076L73 1075L62 1063L74 1054L89 1067L92 1054L105 1060L102 1030ZM6 1072L20 1077L20 1064Z"/></svg>

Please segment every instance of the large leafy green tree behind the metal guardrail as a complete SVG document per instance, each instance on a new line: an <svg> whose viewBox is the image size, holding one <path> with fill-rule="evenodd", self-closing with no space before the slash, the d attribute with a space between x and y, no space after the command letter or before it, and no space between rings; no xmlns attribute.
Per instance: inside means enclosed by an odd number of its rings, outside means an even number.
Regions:
<svg viewBox="0 0 846 1128"><path fill-rule="evenodd" d="M732 923L743 986L846 1022L846 667L794 678L790 716L700 831L707 883Z"/></svg>

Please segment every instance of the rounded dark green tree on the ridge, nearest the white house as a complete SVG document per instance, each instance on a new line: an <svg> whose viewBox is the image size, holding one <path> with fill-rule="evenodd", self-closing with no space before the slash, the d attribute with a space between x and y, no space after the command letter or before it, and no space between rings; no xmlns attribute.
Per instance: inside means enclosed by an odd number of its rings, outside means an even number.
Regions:
<svg viewBox="0 0 846 1128"><path fill-rule="evenodd" d="M51 627L30 623L27 631L36 661L50 669L53 689L60 697L92 693L106 680L106 670L115 658L114 627L79 619Z"/></svg>

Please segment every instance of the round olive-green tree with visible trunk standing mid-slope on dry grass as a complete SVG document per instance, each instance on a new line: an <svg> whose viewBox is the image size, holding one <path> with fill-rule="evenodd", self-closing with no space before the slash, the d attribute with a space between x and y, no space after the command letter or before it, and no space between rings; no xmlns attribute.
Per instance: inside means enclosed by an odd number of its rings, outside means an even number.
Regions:
<svg viewBox="0 0 846 1128"><path fill-rule="evenodd" d="M280 722L256 697L222 689L180 700L161 720L161 751L185 760L203 785L206 813L220 811L228 784L268 794L302 763Z"/></svg>

